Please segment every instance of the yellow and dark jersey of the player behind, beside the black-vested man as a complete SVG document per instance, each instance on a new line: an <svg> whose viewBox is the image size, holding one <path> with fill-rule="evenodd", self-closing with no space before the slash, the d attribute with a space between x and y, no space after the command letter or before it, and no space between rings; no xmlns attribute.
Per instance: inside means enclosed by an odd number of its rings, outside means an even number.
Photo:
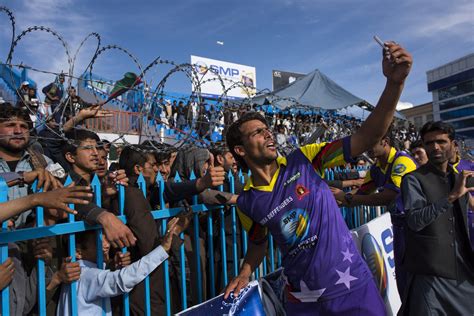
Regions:
<svg viewBox="0 0 474 316"><path fill-rule="evenodd" d="M397 151L394 147L390 149L385 168L382 168L380 161L372 166L367 172L364 184L357 191L358 194L371 194L375 190L390 189L400 193L402 177L416 170L415 160L402 151Z"/></svg>

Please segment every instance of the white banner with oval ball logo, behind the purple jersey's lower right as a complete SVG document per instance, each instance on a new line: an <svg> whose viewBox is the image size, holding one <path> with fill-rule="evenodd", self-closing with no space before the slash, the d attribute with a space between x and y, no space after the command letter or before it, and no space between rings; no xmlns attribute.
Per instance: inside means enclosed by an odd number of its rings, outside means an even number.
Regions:
<svg viewBox="0 0 474 316"><path fill-rule="evenodd" d="M352 236L362 257L375 277L388 315L396 315L401 306L395 280L393 229L390 214L352 230Z"/></svg>

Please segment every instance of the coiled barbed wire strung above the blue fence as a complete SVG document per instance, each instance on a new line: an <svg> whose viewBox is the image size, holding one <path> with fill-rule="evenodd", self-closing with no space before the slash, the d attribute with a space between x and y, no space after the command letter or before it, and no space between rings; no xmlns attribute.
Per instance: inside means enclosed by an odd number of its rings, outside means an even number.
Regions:
<svg viewBox="0 0 474 316"><path fill-rule="evenodd" d="M314 107L300 104L294 98L278 96L274 94L272 91L269 91L268 89L263 89L259 91L254 87L249 87L242 81L230 80L226 77L221 76L218 73L213 73L213 78L205 79L207 72L212 71L212 70L205 69L205 71L202 71L202 68L200 68L198 65L193 65L190 63L176 63L175 61L172 61L172 60L161 59L160 57L156 57L151 63L149 63L145 68L143 68L140 60L129 50L123 47L120 47L118 45L102 46L102 38L100 34L95 33L95 32L90 33L86 37L84 37L84 39L80 42L79 46L75 50L74 55L71 55L70 47L67 41L57 31L49 27L46 27L46 26L28 27L27 29L23 30L18 36L15 36L16 24L15 24L15 17L13 15L13 12L4 6L0 7L0 11L7 14L11 23L11 28L12 28L12 40L10 44L10 49L8 51L7 59L5 62L0 63L1 65L10 69L10 77L11 77L10 85L12 87L15 87L15 84L14 84L15 79L13 77L13 71L12 71L14 68L28 69L29 71L32 71L34 73L48 74L48 75L53 75L56 77L59 77L60 75L64 75L64 77L67 79L67 84L66 84L67 88L64 89L63 87L62 88L63 92L64 91L69 92L69 89L73 87L72 81L77 80L78 83L83 84L84 87L88 91L91 92L96 103L100 103L103 101L104 98L106 99L109 96L107 95L107 93L104 93L104 91L101 91L97 87L100 85L112 86L114 84L114 82L111 80L96 79L96 77L94 76L93 70L96 68L97 62L99 60L102 60L100 59L100 57L104 56L108 52L118 51L124 54L125 57L127 57L128 59L132 61L133 65L136 67L137 73L139 74L138 78L140 78L140 83L135 86L129 87L127 89L127 93L136 93L137 95L141 96L141 99L142 99L142 102L137 102L136 104L133 104L134 109L136 110L134 113L135 115L137 115L137 118L135 120L135 125L138 125L138 134L131 133L132 129L134 129L134 127L137 127L137 126L133 126L134 124L130 124L130 129L128 131L119 131L116 133L117 137L115 140L111 142L111 144L116 144L116 143L118 144L120 142L125 145L134 146L135 144L131 144L126 140L126 135L133 134L133 135L138 135L139 139L144 138L144 139L150 140L152 147L154 146L153 145L154 142L161 143L162 141L166 141L166 142L170 142L167 145L173 147L171 150L180 150L188 145L193 145L193 144L202 146L205 148L209 148L211 146L211 142L208 139L212 139L211 134L215 133L216 130L219 131L219 130L222 130L223 128L222 126L223 112L226 110L237 111L238 109L241 110L242 108L254 106L255 99L265 98L265 102L269 104L285 103L286 105L285 110L289 112L291 112L291 110L293 109L299 109L302 111L307 111L307 110L314 111ZM43 33L49 34L61 44L61 46L64 49L65 56L67 57L66 62L67 62L68 67L67 67L66 73L63 73L63 71L60 71L60 72L51 71L51 70L40 69L37 67L32 67L24 63L23 61L19 64L13 62L18 44L22 40L24 40L27 37L27 35L29 35L30 33L35 33L35 32L43 32ZM79 72L80 75L75 75L77 57L79 53L85 47L84 46L85 43L92 39L96 39L96 42L97 42L95 46L94 54L92 55L91 60L87 63L87 66L82 71ZM156 86L152 88L152 83L154 82L155 76L152 76L151 78L149 78L148 76L149 71L155 67L161 67L161 66L171 67L171 69L168 70L161 78L159 78L159 80L157 80L158 83L156 84ZM128 69L127 71L130 71L130 69ZM157 73L159 73L159 71L156 71L155 75ZM177 75L179 73L184 74L187 80L189 80L189 82L191 83L192 92L187 97L185 96L185 94L183 96L176 96L176 95L173 96L173 94L169 94L166 92L166 85L168 81L174 75ZM213 102L206 101L212 104L210 105L210 109L207 110L203 106L203 104L205 103L205 98L203 98L201 91L204 85L212 84L213 82L218 82L218 84L221 87L222 93ZM246 98L243 98L240 100L231 100L229 98L229 93L235 89L240 89L240 92L244 93L246 95ZM13 90L16 97L19 100L22 100L22 95L20 94L19 90L15 88L13 88ZM39 93L36 95L36 97L38 100L40 100ZM166 111L166 105L159 100L161 98L179 100L180 102L186 101L186 102L189 102L189 104L193 106L197 104L198 111L197 113L193 113L192 120L188 120L188 117L184 118L185 122L190 123L189 131L184 131L178 128L178 122L174 122L174 124L171 124L171 122L169 122L168 119L172 119L172 117L167 117L166 120L163 120L161 116L157 115L156 112ZM130 106L125 101L113 100L113 102L121 106ZM67 112L66 109L68 106L71 109L73 108L73 104L69 104L69 103L72 103L72 98L65 97L64 99L60 100L58 104L56 104L54 110L49 115L50 117L51 116L54 117L55 115L60 114L60 120L57 127L52 127L46 123L48 117L46 118L37 117L38 124L36 128L42 127L44 129L47 129L49 132L51 132L52 135L54 135L54 138L40 137L36 135L36 136L32 136L32 139L58 140L58 141L70 142L70 140L66 138L64 128L63 128L65 124L64 118ZM263 103L263 102L260 101L259 103ZM27 107L30 114L38 116L36 108L31 107L31 105L28 104L27 102L25 102L25 106ZM109 106L108 109L110 109L111 107L112 106ZM161 108L161 111L156 111L157 107ZM191 108L188 108L187 110L192 111ZM76 114L75 110L73 111L72 114ZM176 115L176 114L173 114L173 115ZM197 115L197 117L194 117L194 115ZM102 118L98 118L98 119L102 120ZM150 121L152 123L150 123ZM201 127L200 125L204 125L204 127L206 127L206 124L207 124L207 130L205 131L205 133L200 133L200 135L196 136L197 127L198 126ZM178 139L176 137L168 138L166 136L163 136L157 132L156 126L158 125L165 126L167 129L173 130L175 133L181 136L177 137ZM181 126L182 124L179 127ZM84 127L74 126L73 128L82 129ZM34 132L35 130L36 130L35 128L31 129L30 133ZM0 139L8 138L8 137L9 136L0 136ZM137 148L137 149L140 149L140 148ZM161 147L160 148L156 147L156 148L153 148L153 150L162 151L162 150L170 150L170 149L163 149Z"/></svg>

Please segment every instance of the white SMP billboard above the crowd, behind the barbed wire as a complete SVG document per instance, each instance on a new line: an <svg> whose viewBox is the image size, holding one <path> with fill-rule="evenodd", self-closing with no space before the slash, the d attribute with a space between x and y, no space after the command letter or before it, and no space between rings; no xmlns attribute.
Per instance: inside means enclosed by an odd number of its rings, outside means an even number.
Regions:
<svg viewBox="0 0 474 316"><path fill-rule="evenodd" d="M202 83L200 87L204 96L218 97L229 88L231 89L226 95L228 98L248 98L256 92L255 67L193 55L191 55L191 64L195 66L199 82ZM193 82L193 92L195 92L195 86L196 82Z"/></svg>

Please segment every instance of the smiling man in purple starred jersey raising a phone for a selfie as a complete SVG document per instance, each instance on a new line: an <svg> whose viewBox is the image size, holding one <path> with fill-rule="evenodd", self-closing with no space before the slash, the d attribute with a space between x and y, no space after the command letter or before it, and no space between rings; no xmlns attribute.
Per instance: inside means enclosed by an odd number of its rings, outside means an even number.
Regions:
<svg viewBox="0 0 474 316"><path fill-rule="evenodd" d="M273 134L259 114L245 114L229 128L229 149L252 176L237 202L240 220L249 232L248 251L239 275L226 288L226 298L248 284L266 255L269 231L283 255L287 313L385 314L373 277L322 175L385 135L411 64L402 47L385 44L385 89L360 129L344 139L306 145L285 158L278 157Z"/></svg>

